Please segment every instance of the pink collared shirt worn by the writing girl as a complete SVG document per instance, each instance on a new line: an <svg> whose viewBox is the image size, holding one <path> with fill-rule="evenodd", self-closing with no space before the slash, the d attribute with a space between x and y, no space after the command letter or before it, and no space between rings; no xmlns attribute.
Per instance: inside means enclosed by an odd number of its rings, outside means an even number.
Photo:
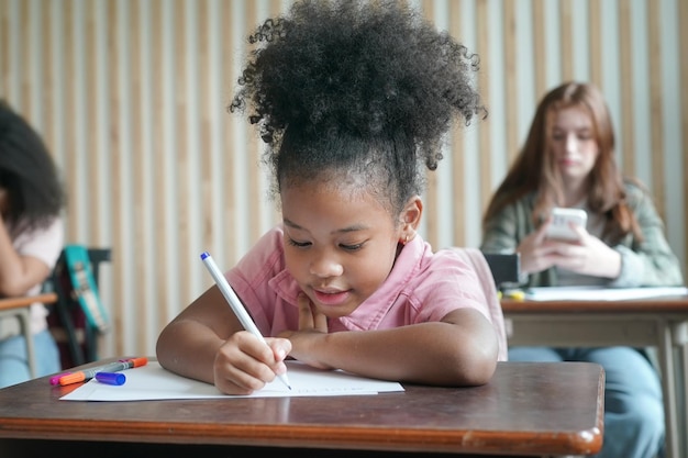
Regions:
<svg viewBox="0 0 688 458"><path fill-rule="evenodd" d="M491 273L479 252L468 253L482 260L481 272L460 249L433 254L430 244L417 235L403 247L380 288L351 315L330 319L329 332L441 321L453 310L468 308L492 323L500 339L499 359L506 360L503 316ZM267 232L225 276L264 335L298 329L300 288L286 270L281 226Z"/></svg>

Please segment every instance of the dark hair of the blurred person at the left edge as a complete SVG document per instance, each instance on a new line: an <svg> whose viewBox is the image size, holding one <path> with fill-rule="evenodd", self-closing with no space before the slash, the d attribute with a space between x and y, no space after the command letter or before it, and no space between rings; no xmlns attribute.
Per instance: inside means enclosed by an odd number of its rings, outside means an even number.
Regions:
<svg viewBox="0 0 688 458"><path fill-rule="evenodd" d="M18 231L46 227L59 215L65 194L41 136L0 100L0 187L10 204L4 216Z"/></svg>

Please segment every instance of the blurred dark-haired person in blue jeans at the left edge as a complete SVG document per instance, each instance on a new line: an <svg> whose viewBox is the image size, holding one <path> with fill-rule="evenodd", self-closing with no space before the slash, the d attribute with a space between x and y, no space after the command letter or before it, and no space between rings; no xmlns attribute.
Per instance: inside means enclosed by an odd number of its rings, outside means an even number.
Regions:
<svg viewBox="0 0 688 458"><path fill-rule="evenodd" d="M0 100L0 297L41 292L63 248L64 192L53 159L30 124ZM47 309L31 305L37 377L60 370ZM0 387L30 379L19 320L0 320Z"/></svg>

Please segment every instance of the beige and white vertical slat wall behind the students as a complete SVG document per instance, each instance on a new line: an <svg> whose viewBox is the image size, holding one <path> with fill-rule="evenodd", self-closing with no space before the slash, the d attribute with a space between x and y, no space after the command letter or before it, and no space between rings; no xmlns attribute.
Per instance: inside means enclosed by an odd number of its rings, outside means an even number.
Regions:
<svg viewBox="0 0 688 458"><path fill-rule="evenodd" d="M688 7L683 0L408 0L480 56L489 116L457 125L431 175L424 236L478 246L481 212L535 105L564 79L608 97L626 174L688 257ZM107 246L114 331L101 356L154 353L159 329L279 215L263 147L229 114L259 19L290 0L0 0L0 97L43 133L69 193L70 243ZM672 209L669 212L668 209Z"/></svg>

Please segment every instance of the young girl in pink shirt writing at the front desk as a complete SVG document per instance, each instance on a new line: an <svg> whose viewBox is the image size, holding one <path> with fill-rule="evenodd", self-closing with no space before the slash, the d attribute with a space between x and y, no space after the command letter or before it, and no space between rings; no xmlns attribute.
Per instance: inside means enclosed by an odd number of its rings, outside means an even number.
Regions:
<svg viewBox="0 0 688 458"><path fill-rule="evenodd" d="M225 276L268 345L213 286L163 329L158 361L230 394L285 373L287 356L371 378L486 383L506 358L496 293L417 232L442 135L484 112L477 59L397 2L298 2L251 41L262 47L231 110L251 107L282 223Z"/></svg>

